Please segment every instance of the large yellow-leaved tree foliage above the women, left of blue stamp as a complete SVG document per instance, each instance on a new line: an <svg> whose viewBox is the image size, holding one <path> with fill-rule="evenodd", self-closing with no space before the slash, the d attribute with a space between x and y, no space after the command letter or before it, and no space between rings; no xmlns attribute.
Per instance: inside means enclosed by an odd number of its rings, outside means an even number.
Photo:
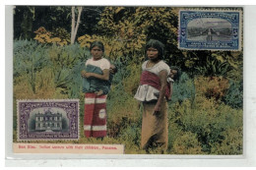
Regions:
<svg viewBox="0 0 256 170"><path fill-rule="evenodd" d="M166 45L165 60L170 63L170 54L182 55L177 49L177 16L169 7L106 7L97 24L98 34L103 34L111 45L107 45L108 55L122 56L142 62L146 41L159 39ZM84 37L86 38L86 37ZM100 38L105 44L109 42ZM109 46L109 47L108 47Z"/></svg>

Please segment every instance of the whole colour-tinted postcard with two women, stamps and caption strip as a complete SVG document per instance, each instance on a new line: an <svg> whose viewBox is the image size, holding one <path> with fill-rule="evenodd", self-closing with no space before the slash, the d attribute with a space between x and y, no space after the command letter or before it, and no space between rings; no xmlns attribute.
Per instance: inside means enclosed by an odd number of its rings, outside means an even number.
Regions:
<svg viewBox="0 0 256 170"><path fill-rule="evenodd" d="M14 155L243 155L242 7L13 18Z"/></svg>

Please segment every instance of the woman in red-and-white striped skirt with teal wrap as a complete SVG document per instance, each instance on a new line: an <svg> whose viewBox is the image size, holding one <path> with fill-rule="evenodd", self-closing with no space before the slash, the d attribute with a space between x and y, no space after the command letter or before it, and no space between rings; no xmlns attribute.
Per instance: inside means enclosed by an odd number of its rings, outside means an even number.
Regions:
<svg viewBox="0 0 256 170"><path fill-rule="evenodd" d="M103 138L106 136L106 94L110 88L110 63L102 57L102 42L93 42L90 51L93 57L87 60L86 69L81 72L85 92L84 134L86 138Z"/></svg>

